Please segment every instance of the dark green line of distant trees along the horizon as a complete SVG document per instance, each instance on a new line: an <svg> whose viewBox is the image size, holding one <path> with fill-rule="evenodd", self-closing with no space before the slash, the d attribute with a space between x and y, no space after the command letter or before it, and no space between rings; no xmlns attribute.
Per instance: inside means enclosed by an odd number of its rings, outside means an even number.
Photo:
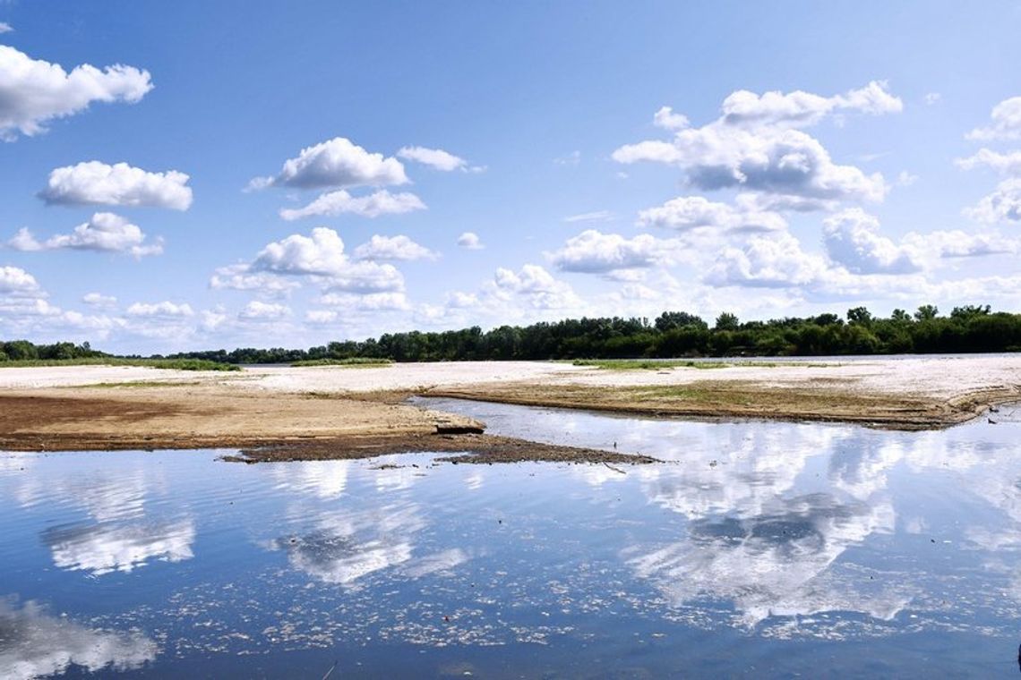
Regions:
<svg viewBox="0 0 1021 680"><path fill-rule="evenodd" d="M615 359L740 356L827 356L1021 352L1021 314L992 312L988 305L955 307L940 316L932 305L916 312L894 310L888 318L865 307L845 318L820 314L807 318L741 322L720 314L711 326L686 312L659 318L582 318L528 326L478 326L442 332L386 333L367 341L330 343L307 350L243 348L184 352L171 359L206 359L230 364L280 364L320 359L468 361L510 359ZM88 343L34 345L0 342L0 362L84 359L111 356ZM158 355L157 355L158 357Z"/></svg>

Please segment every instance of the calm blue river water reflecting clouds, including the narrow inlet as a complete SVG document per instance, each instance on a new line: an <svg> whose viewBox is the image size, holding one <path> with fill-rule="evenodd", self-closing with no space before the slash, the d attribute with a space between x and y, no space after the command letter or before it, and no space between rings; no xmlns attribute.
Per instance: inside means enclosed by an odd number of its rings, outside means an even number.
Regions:
<svg viewBox="0 0 1021 680"><path fill-rule="evenodd" d="M1018 674L1021 410L428 406L668 462L0 453L0 677Z"/></svg>

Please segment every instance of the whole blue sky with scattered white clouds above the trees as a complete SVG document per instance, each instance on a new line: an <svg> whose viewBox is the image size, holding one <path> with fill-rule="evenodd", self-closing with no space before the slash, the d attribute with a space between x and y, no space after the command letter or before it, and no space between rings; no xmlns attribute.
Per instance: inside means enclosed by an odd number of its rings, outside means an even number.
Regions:
<svg viewBox="0 0 1021 680"><path fill-rule="evenodd" d="M0 337L167 352L667 309L1017 310L1019 19L0 3Z"/></svg>

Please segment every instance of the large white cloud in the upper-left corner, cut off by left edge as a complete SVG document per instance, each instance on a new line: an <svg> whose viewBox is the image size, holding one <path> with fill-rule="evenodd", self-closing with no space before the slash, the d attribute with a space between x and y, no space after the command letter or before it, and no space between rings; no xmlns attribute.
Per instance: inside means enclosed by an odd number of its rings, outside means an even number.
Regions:
<svg viewBox="0 0 1021 680"><path fill-rule="evenodd" d="M0 139L38 135L49 120L84 111L92 102L134 104L150 90L149 72L133 66L83 64L68 73L0 45Z"/></svg>

